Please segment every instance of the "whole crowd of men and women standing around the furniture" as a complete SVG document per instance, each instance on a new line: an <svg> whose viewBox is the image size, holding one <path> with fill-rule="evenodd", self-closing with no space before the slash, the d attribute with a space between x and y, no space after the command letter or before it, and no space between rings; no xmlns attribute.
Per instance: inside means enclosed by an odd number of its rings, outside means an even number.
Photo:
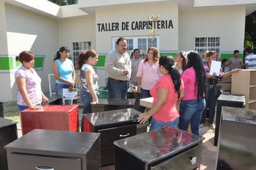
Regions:
<svg viewBox="0 0 256 170"><path fill-rule="evenodd" d="M53 61L55 92L58 97L62 97L63 89L72 91L75 87L75 68L68 59L69 52L67 47L61 47ZM151 109L140 107L142 114L137 119L139 123L145 123L151 118L150 130L169 125L188 130L191 125L192 133L199 135L199 128L204 126L208 107L209 124L211 128L215 128L213 120L218 96L214 94L214 86L238 69L224 73L221 68L219 74L209 74L212 61L217 59L215 51L207 51L206 62L203 62L197 51L179 51L173 58L171 55L159 56L157 48L150 47L144 59L140 58L139 49L134 49L133 55L134 58L130 60L127 40L123 37L117 39L116 49L107 54L105 69L109 75L109 99L125 99L131 83L137 86L141 99L153 97ZM34 54L22 51L16 56L16 60L22 63L15 73L19 90L19 110L40 109L42 101L47 102L48 99L42 92L41 79L33 69ZM252 59L247 58L245 61L250 60ZM97 62L98 53L94 50L81 51L78 55L83 114L90 112L90 104L98 104L99 78L93 69ZM63 104L72 104L72 101L63 100ZM83 128L83 119L81 123Z"/></svg>

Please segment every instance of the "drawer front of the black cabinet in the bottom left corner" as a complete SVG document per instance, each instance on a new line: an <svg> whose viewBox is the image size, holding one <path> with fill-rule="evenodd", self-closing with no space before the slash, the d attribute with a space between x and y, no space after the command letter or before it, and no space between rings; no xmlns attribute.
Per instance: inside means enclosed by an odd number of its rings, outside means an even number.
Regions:
<svg viewBox="0 0 256 170"><path fill-rule="evenodd" d="M7 156L9 170L70 170L82 168L81 158L42 156L10 153ZM83 169L85 170L85 169Z"/></svg>

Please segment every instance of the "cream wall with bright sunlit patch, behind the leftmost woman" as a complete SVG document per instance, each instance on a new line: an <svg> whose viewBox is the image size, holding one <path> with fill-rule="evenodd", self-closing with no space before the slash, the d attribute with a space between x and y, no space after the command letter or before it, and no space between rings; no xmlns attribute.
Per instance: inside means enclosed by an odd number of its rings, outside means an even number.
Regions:
<svg viewBox="0 0 256 170"><path fill-rule="evenodd" d="M9 4L5 4L5 7L8 50L2 54L15 57L21 51L29 50L35 55L45 55L43 70L37 73L42 78L43 92L48 92L48 73L52 73L53 55L59 48L57 20ZM1 79L5 79L2 86L6 88L2 91L4 94L1 95L1 101L17 99L14 71L0 74Z"/></svg>

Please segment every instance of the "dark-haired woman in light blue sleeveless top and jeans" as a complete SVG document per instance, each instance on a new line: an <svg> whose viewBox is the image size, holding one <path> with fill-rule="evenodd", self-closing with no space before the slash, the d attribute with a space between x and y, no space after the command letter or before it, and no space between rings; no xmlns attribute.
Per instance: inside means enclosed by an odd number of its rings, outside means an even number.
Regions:
<svg viewBox="0 0 256 170"><path fill-rule="evenodd" d="M68 47L60 47L53 61L53 74L55 80L55 93L58 97L63 96L63 89L72 91L75 87L75 68L73 62L68 59L70 49ZM63 99L63 104L72 104L71 99Z"/></svg>

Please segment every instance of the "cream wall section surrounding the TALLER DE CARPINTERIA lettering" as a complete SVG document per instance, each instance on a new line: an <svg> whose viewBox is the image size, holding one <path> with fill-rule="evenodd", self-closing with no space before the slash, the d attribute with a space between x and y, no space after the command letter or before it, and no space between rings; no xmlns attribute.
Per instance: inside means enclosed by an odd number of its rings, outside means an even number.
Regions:
<svg viewBox="0 0 256 170"><path fill-rule="evenodd" d="M96 11L96 47L99 53L106 55L112 50L113 37L149 37L149 29L132 30L133 21L148 21L149 15L159 16L158 20L172 20L173 29L157 29L156 35L160 35L160 49L162 51L178 50L178 5L144 5L130 7L112 7ZM119 30L99 31L97 24L119 24ZM129 22L129 29L122 30L122 22ZM104 67L98 68L99 85L105 85L107 73Z"/></svg>

